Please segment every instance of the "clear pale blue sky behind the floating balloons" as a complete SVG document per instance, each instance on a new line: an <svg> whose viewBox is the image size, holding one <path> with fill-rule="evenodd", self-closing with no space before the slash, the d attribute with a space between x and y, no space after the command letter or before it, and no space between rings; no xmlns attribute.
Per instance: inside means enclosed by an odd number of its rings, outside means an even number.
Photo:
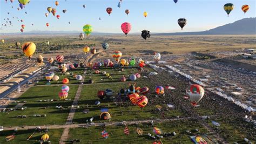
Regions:
<svg viewBox="0 0 256 144"><path fill-rule="evenodd" d="M59 5L56 6L55 1L52 0L30 0L30 3L25 5L25 9L18 11L18 0L14 0L14 3L10 0L7 3L1 0L1 25L6 23L6 18L9 18L13 26L1 26L0 32L20 32L22 24L26 25L24 31L82 32L85 24L91 24L93 31L122 33L120 25L124 22L131 23L131 33L142 30L191 32L213 29L242 18L256 17L255 0L178 0L177 4L173 0L123 0L121 8L117 7L119 0L66 0L66 2L58 0L58 2ZM226 3L234 4L229 17L223 8ZM86 8L83 8L84 4ZM244 4L250 5L246 15L241 10ZM14 8L11 8L12 6ZM53 17L51 13L45 17L49 6L57 9L56 15L60 15L60 19ZM106 12L107 7L113 9L110 16ZM62 12L63 9L67 10L66 13ZM130 10L128 16L125 13L126 9ZM144 11L148 13L146 18L143 16ZM24 22L18 22L16 17L19 20L23 19ZM177 23L179 18L187 19L183 31ZM46 23L50 26L47 27Z"/></svg>

